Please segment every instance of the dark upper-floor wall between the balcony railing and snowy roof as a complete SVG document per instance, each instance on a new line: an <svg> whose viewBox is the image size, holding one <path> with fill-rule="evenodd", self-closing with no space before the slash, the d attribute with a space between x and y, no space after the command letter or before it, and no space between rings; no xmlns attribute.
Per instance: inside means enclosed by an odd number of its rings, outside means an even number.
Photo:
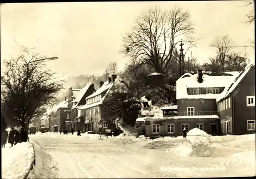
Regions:
<svg viewBox="0 0 256 179"><path fill-rule="evenodd" d="M187 107L195 107L195 111L217 111L216 99L177 99L177 105L178 113L186 112Z"/></svg>

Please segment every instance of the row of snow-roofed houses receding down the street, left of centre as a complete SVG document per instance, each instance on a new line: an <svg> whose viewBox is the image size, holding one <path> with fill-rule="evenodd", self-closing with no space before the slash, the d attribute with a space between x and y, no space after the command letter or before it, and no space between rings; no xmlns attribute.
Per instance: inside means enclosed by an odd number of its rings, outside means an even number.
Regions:
<svg viewBox="0 0 256 179"><path fill-rule="evenodd" d="M97 90L94 84L82 89L69 88L67 97L59 104L49 107L42 116L40 127L49 126L50 131L56 132L63 129L71 131L73 128L75 131L80 129L82 132L98 133L109 129L110 116L107 108L102 105L103 100L112 93L114 86L125 88L127 85L120 77L112 75L107 81L99 81L99 86Z"/></svg>

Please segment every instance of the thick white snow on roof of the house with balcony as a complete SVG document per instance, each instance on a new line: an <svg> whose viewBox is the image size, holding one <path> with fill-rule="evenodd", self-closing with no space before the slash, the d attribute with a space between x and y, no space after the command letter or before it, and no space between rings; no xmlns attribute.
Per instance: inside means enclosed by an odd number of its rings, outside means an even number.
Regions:
<svg viewBox="0 0 256 179"><path fill-rule="evenodd" d="M176 81L177 99L217 99L221 94L188 95L187 88L226 87L237 78L240 72L225 72L222 74L203 73L203 82L197 81L198 74L185 73Z"/></svg>

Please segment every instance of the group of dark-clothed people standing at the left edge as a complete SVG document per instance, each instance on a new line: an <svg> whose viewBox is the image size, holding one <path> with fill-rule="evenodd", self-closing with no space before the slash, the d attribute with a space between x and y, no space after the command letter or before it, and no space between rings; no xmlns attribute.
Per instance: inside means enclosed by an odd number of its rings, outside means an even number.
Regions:
<svg viewBox="0 0 256 179"><path fill-rule="evenodd" d="M9 144L11 144L12 147L17 143L27 142L28 140L28 133L27 131L25 131L24 127L20 127L20 130L11 127L9 134L7 130L4 130L2 132L2 148L5 147L7 141Z"/></svg>

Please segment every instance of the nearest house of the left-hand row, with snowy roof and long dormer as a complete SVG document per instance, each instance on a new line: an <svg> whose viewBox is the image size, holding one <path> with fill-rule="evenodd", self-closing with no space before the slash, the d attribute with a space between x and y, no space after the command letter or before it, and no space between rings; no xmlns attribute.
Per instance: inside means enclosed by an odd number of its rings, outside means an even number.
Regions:
<svg viewBox="0 0 256 179"><path fill-rule="evenodd" d="M126 84L120 77L112 75L108 81L100 81L100 87L95 93L86 98L86 105L78 109L78 118L84 118L85 131L94 131L95 133L104 132L111 129L111 115L108 108L103 106L106 96L112 93L112 88L125 86Z"/></svg>

